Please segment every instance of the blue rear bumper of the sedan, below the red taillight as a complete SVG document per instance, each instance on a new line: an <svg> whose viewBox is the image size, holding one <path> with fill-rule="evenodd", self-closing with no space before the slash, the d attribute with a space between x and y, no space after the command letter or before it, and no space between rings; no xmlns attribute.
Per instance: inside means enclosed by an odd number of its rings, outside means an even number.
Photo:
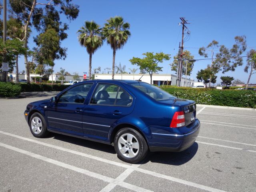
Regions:
<svg viewBox="0 0 256 192"><path fill-rule="evenodd" d="M192 146L199 134L200 122L196 119L193 129L186 134L163 134L152 132L149 141L150 151L179 152Z"/></svg>

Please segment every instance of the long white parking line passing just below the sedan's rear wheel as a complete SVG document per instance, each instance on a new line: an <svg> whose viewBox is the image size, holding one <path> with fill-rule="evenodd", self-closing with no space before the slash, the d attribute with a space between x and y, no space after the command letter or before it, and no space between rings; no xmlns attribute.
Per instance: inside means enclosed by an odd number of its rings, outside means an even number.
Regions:
<svg viewBox="0 0 256 192"><path fill-rule="evenodd" d="M75 151L75 150L71 150L71 149L55 146L55 145L52 145L52 144L48 144L48 143L45 143L45 142L40 142L40 141L37 141L37 140L33 140L33 139L30 139L30 138L18 136L18 135L12 134L12 133L4 132L4 131L0 131L0 133L8 135L8 136L15 137L15 138L19 138L19 139L22 139L22 140L26 140L26 141L29 141L29 142L34 142L34 143L37 143L37 144L41 144L43 146L48 146L50 148L55 148L55 149L62 150L62 151L65 151L65 152L70 152L72 154L77 154L77 155L80 155L80 156L84 156L84 157L87 157L87 158L98 160L98 161L101 161L101 162L104 162L104 163L108 163L108 164L112 164L112 165L116 165L116 166L120 166L120 167L124 167L124 168L131 168L133 170L136 170L136 171L142 172L142 173L146 173L146 174L149 174L151 176L164 178L164 179L167 179L167 180L170 180L170 181L174 181L174 182L178 182L180 184L200 188L200 189L207 190L207 191L210 191L210 192L224 192L224 191L218 190L216 188L212 188L212 187L204 186L204 185L197 184L197 183L194 183L194 182L174 178L174 177L167 176L167 175L160 174L160 173L156 173L156 172L153 172L153 171L150 171L150 170L144 170L144 169L141 169L141 168L138 168L138 167L136 168L136 167L134 167L132 165L129 165L129 164L124 164L124 163L119 163L119 162L107 160L107 159L104 159L104 158L92 156L92 155L85 154L85 153L82 153L82 152L78 152L78 151ZM124 182L121 183L121 184L124 184ZM118 185L123 186L121 184L118 184Z"/></svg>

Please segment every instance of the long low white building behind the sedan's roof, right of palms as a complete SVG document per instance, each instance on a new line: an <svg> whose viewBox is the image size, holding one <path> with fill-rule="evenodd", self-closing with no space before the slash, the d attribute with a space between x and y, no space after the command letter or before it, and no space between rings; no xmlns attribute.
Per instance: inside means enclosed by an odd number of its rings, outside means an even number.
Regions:
<svg viewBox="0 0 256 192"><path fill-rule="evenodd" d="M141 80L143 82L150 84L150 75L149 74L115 74L114 79L124 79L124 80ZM142 77L141 77L142 76ZM95 74L95 79L112 79L112 74ZM152 75L152 84L164 84L164 85L176 85L176 75L171 74L153 74ZM182 80L180 82L181 86L188 86L192 87L194 86L194 80L190 78L184 78L182 77Z"/></svg>

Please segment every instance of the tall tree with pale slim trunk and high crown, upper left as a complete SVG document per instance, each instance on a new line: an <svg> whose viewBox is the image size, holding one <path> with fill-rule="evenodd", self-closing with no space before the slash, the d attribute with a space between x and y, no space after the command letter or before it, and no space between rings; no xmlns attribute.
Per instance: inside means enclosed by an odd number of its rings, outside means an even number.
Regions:
<svg viewBox="0 0 256 192"><path fill-rule="evenodd" d="M74 20L79 13L79 6L72 4L72 0L49 0L38 2L37 0L10 0L10 12L12 16L19 18L24 22L24 47L28 48L28 30L30 25L34 25L36 30L40 28L46 28L47 22L51 21L51 26L54 28L56 25L63 25L64 27L60 30L60 33L68 28L67 24L60 22L59 14L64 14L68 20ZM55 8L58 8L56 10ZM52 20L54 18L54 20ZM67 35L63 34L63 38ZM27 81L30 82L30 71L28 62L28 55L24 56L26 64Z"/></svg>

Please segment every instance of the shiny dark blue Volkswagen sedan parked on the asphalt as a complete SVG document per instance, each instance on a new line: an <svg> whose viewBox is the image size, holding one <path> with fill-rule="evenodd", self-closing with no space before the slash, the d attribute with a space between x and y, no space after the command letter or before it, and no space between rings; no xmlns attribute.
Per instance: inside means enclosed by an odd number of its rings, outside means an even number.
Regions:
<svg viewBox="0 0 256 192"><path fill-rule="evenodd" d="M114 146L128 163L148 151L182 151L196 140L196 103L132 80L89 80L57 96L32 102L24 112L31 133L49 132Z"/></svg>

